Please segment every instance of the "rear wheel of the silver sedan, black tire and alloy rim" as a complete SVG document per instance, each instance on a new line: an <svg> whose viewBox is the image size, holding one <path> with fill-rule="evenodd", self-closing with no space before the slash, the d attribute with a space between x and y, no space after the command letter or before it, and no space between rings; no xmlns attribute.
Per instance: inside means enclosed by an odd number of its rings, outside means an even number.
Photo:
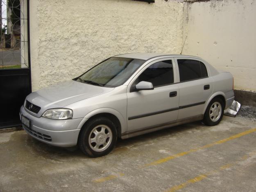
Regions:
<svg viewBox="0 0 256 192"><path fill-rule="evenodd" d="M213 114L214 113L213 108L212 108L213 104L216 104L216 106L217 106L217 104L219 104L220 107L221 107L220 110L218 109L216 111L216 113L215 113L216 115ZM218 113L218 111L220 111L220 114ZM210 115L210 113L212 115ZM214 126L214 125L219 124L220 121L222 120L223 113L224 113L224 102L223 102L223 100L218 98L218 97L213 98L213 100L211 100L211 102L208 104L208 106L206 108L206 111L204 113L204 119L203 119L204 124L206 124L208 126ZM218 116L218 118L215 119L215 117L213 117L213 116L217 117L217 114L219 114L219 116Z"/></svg>

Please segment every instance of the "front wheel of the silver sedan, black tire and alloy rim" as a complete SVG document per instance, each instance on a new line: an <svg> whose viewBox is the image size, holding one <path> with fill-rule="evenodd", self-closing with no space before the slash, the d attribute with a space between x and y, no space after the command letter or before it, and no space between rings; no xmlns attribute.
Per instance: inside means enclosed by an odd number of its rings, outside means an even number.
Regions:
<svg viewBox="0 0 256 192"><path fill-rule="evenodd" d="M102 126L100 126L102 125ZM98 128L96 128L98 126ZM103 146L104 144L101 142L104 142L103 140L105 140L106 134L108 133L102 133L103 128L104 128L104 132L111 132L112 134L112 138L108 140L108 144ZM97 136L94 134L94 132L92 132L93 130L95 131L95 129L100 129L100 132L97 132ZM102 135L100 135L100 133L102 133ZM94 135L93 135L94 134ZM96 142L89 142L89 136L91 139L95 140ZM94 136L92 138L92 136ZM104 137L103 139L101 137ZM82 127L81 133L79 134L79 138L78 138L78 146L81 149L81 151L91 157L100 157L100 156L104 156L106 154L109 154L110 151L112 151L112 149L115 147L116 145L116 140L117 140L117 129L116 129L116 125L109 120L106 117L97 117L94 118L92 120L89 120L88 122L86 122L86 124ZM104 143L107 142L107 138L105 140ZM95 143L95 146L93 146ZM98 144L98 145L97 145ZM103 146L102 148L97 147L97 146ZM93 149L95 147L95 149ZM103 149L104 147L106 147L105 149ZM102 150L102 151L96 151L96 150Z"/></svg>

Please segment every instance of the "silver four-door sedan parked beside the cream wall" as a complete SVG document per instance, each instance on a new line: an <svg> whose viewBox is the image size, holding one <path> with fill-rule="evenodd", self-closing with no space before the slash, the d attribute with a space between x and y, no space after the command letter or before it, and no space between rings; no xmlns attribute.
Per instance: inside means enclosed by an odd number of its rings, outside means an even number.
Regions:
<svg viewBox="0 0 256 192"><path fill-rule="evenodd" d="M213 126L234 100L233 76L196 56L113 56L79 77L29 94L20 120L33 138L108 154L117 138L202 120Z"/></svg>

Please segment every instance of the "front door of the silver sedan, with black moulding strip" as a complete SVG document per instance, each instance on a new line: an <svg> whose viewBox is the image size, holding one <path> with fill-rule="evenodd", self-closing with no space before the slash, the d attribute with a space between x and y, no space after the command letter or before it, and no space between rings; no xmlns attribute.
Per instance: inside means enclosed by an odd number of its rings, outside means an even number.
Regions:
<svg viewBox="0 0 256 192"><path fill-rule="evenodd" d="M158 59L138 72L127 89L127 131L150 128L177 120L179 88L174 59ZM151 82L154 90L134 91L140 81Z"/></svg>

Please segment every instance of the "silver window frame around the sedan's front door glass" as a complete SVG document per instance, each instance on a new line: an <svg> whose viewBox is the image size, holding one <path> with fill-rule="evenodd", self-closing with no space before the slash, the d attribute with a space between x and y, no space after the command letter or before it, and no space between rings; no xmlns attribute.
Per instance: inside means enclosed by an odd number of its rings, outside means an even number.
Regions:
<svg viewBox="0 0 256 192"><path fill-rule="evenodd" d="M131 79L129 86L128 86L128 92L134 92L133 90L133 86L134 83L136 81L136 79L140 76L141 73L143 73L148 67L150 67L151 65L153 65L154 63L157 63L159 61L166 61L166 60L171 60L172 61L172 73L173 73L173 83L171 84L166 84L166 85L162 85L162 86L155 86L154 88L159 88L159 87L163 87L163 86L170 86L173 84L177 84L178 83L178 79L177 79L177 67L176 67L176 62L174 61L174 57L166 57L166 58L161 58L161 59L156 59L154 61L151 61L150 63L147 63L147 65L143 66L143 68L139 68L138 71L136 71L136 75Z"/></svg>

